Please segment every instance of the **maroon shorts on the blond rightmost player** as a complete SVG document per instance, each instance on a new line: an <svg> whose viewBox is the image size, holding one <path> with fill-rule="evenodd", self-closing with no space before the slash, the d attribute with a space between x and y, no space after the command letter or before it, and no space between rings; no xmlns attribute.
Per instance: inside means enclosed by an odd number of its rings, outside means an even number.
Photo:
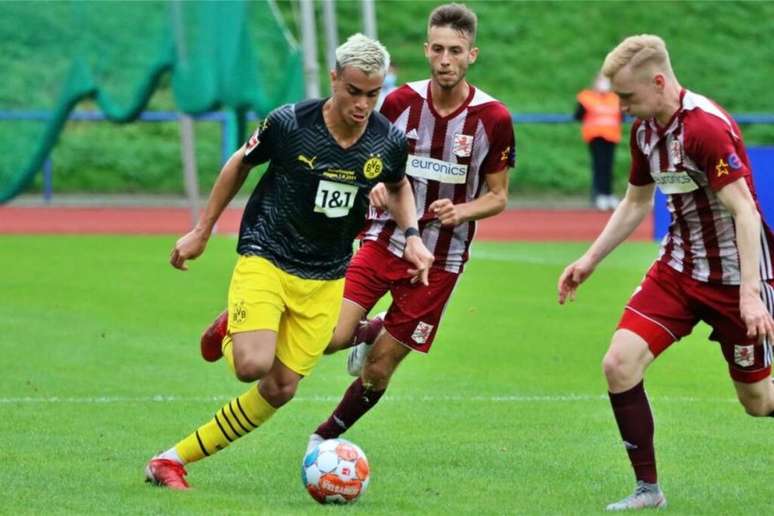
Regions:
<svg viewBox="0 0 774 516"><path fill-rule="evenodd" d="M774 281L762 284L764 304L772 311ZM699 321L712 327L731 378L754 383L771 374L772 349L747 337L739 312L739 287L697 281L656 262L626 305L618 328L630 330L658 356L685 337Z"/></svg>

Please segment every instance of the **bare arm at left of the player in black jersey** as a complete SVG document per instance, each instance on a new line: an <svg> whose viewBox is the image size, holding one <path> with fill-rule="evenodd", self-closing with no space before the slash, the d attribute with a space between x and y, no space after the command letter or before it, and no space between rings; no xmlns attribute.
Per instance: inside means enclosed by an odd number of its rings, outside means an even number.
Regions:
<svg viewBox="0 0 774 516"><path fill-rule="evenodd" d="M169 263L176 269L188 270L185 261L193 260L204 252L215 223L242 187L247 174L253 167L252 164L243 162L244 154L244 146L242 146L223 165L210 191L207 206L199 217L196 226L175 243Z"/></svg>

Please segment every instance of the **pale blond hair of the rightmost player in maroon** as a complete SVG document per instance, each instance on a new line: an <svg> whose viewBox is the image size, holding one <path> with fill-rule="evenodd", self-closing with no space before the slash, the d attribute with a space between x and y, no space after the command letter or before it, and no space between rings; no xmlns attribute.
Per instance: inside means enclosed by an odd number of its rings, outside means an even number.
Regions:
<svg viewBox="0 0 774 516"><path fill-rule="evenodd" d="M652 67L674 77L664 40L652 34L629 36L619 43L605 57L602 74L612 79L625 66L633 71Z"/></svg>

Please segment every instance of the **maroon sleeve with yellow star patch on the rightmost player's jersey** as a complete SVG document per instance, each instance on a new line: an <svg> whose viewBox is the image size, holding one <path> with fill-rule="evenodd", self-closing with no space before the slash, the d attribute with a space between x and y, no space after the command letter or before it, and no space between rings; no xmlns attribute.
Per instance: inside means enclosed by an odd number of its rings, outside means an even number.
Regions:
<svg viewBox="0 0 774 516"><path fill-rule="evenodd" d="M752 172L739 130L721 118L704 115L702 123L686 131L685 151L707 174L710 188L718 191ZM686 124L687 125L687 124Z"/></svg>

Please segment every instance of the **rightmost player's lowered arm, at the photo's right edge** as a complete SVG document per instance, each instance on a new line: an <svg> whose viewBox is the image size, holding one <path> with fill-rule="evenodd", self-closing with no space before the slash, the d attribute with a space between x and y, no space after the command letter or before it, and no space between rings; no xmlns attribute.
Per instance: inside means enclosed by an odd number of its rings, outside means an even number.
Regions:
<svg viewBox="0 0 774 516"><path fill-rule="evenodd" d="M761 216L747 182L741 177L718 190L717 196L734 218L742 274L739 284L739 310L747 326L747 336L759 339L768 337L774 340L774 320L761 299Z"/></svg>

